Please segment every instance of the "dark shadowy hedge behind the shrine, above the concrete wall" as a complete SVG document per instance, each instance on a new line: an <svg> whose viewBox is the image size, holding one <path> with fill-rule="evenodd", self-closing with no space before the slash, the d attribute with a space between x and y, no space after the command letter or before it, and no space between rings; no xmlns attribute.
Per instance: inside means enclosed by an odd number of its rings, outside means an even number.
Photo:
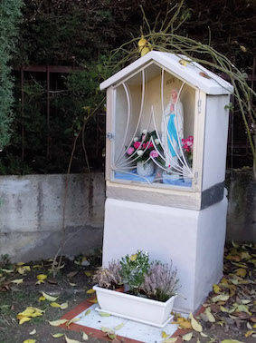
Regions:
<svg viewBox="0 0 256 343"><path fill-rule="evenodd" d="M179 4L177 0L24 0L19 44L12 64L16 68L29 64L71 65L81 71L52 76L49 154L46 76L26 73L24 160L21 158L20 73L14 73L14 134L11 144L2 152L0 173L67 171L74 142L71 171L85 169L86 154L92 169L102 169L105 122L104 96L99 91L99 83L109 76L104 68L107 56L146 30L140 27L145 23L139 5L143 6L148 22L156 22L157 32L165 21L166 11L170 11L166 18L169 19ZM187 0L167 31L211 44L242 72L251 74L255 54L252 7L252 0ZM246 141L241 116L234 114L237 139ZM84 134L80 134L81 128L85 129ZM250 164L250 155L240 159L240 163Z"/></svg>

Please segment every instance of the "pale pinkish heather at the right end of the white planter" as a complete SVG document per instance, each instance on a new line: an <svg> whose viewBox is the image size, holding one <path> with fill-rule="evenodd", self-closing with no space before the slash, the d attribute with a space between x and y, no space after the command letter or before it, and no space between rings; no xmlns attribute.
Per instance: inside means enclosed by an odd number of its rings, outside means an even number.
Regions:
<svg viewBox="0 0 256 343"><path fill-rule="evenodd" d="M175 295L177 289L178 279L176 278L176 270L172 268L172 265L169 266L159 261L152 262L144 277L144 282L140 286L140 290L149 299L159 301L170 299Z"/></svg>

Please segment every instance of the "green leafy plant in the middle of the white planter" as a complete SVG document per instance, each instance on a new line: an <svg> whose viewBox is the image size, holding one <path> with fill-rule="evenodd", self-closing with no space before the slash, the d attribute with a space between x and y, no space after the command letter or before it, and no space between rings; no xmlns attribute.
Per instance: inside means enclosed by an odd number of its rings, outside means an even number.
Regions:
<svg viewBox="0 0 256 343"><path fill-rule="evenodd" d="M150 267L148 253L137 250L136 254L123 257L120 260L120 265L120 274L125 289L131 293L137 294Z"/></svg>

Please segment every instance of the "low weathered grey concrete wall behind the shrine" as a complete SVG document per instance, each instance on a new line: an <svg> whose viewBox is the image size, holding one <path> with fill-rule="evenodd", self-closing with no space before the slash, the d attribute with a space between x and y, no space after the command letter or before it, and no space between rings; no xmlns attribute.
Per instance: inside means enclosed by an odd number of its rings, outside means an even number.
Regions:
<svg viewBox="0 0 256 343"><path fill-rule="evenodd" d="M105 181L102 173L71 174L67 192L64 253L101 247ZM66 176L0 176L0 256L14 261L52 257L62 240ZM256 241L255 181L251 171L227 173L227 240Z"/></svg>

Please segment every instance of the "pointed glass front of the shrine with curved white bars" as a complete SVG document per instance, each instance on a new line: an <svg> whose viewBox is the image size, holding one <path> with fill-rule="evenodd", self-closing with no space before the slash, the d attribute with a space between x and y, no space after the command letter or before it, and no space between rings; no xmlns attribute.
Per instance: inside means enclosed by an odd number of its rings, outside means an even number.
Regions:
<svg viewBox="0 0 256 343"><path fill-rule="evenodd" d="M156 64L115 89L113 177L191 187L194 88Z"/></svg>

